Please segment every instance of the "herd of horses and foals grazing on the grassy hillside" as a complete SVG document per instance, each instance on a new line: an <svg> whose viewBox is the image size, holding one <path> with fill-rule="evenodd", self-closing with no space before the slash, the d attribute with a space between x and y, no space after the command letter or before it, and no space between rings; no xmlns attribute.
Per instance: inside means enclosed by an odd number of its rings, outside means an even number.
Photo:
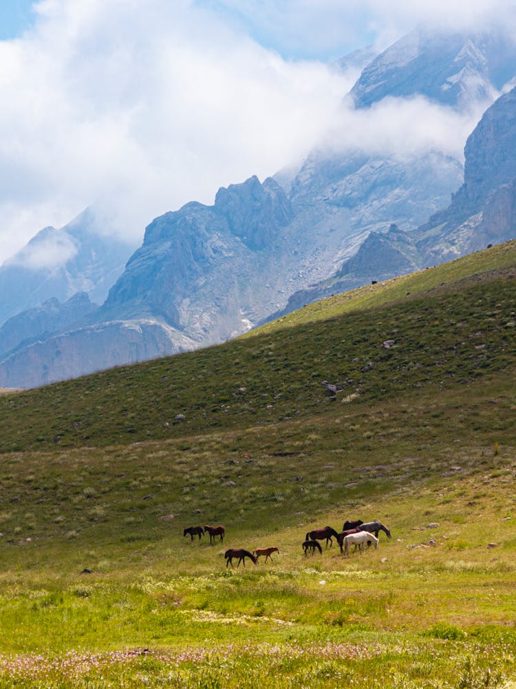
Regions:
<svg viewBox="0 0 516 689"><path fill-rule="evenodd" d="M378 547L378 534L383 531L387 538L391 537L391 532L378 520L373 522L363 522L362 520L354 520L352 522L344 522L343 529L340 533L337 533L331 526L325 526L324 528L316 528L314 531L308 531L303 541L302 548L305 555L310 552L314 555L315 551L319 553L323 552L323 548L319 541L325 541L326 547L328 545L332 546L333 540L336 539L339 548L341 548L341 553L343 555L349 555L350 548L354 546L354 549L358 548L358 551L362 554L365 546ZM224 536L226 535L226 529L224 526L209 526L206 524L202 526L188 526L183 531L184 536L190 536L193 541L194 536L198 536L201 539L204 534L207 533L210 537L210 544L216 542L217 536L219 537L219 543L224 542ZM246 551L244 548L228 548L226 553L224 553L224 559L226 559L226 567L230 564L233 567L233 560L237 559L237 567L240 563L246 566L246 557L250 559L253 564L257 564L259 557L265 557L265 562L268 559L272 562L272 553L279 553L279 548L277 546L270 546L269 548L256 548L252 553Z"/></svg>

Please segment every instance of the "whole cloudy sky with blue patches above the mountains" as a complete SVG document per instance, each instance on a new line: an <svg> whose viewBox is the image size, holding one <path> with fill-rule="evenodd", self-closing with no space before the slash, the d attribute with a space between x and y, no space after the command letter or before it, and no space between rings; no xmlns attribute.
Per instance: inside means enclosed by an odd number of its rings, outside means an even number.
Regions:
<svg viewBox="0 0 516 689"><path fill-rule="evenodd" d="M0 260L90 204L140 240L155 216L213 203L218 187L274 174L335 131L358 75L336 74L334 59L382 50L420 21L507 22L513 10L508 0L0 0ZM460 156L474 117L398 105L360 121L350 112L346 131L375 141L379 127L387 147L398 138Z"/></svg>

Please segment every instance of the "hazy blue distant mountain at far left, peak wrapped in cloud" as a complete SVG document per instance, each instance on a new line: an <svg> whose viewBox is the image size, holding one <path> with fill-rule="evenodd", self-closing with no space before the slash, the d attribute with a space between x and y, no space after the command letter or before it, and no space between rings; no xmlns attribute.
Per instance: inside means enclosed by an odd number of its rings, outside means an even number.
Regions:
<svg viewBox="0 0 516 689"><path fill-rule="evenodd" d="M48 299L86 292L102 303L122 273L133 243L109 236L92 209L55 229L45 227L0 266L0 324Z"/></svg>

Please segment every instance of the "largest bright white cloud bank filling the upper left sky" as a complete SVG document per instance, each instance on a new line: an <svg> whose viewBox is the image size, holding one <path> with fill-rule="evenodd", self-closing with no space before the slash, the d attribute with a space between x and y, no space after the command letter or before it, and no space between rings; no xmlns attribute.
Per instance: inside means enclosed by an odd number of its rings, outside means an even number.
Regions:
<svg viewBox="0 0 516 689"><path fill-rule="evenodd" d="M188 0L44 0L36 12L0 42L0 258L92 203L135 240L158 214L274 174L351 86Z"/></svg>

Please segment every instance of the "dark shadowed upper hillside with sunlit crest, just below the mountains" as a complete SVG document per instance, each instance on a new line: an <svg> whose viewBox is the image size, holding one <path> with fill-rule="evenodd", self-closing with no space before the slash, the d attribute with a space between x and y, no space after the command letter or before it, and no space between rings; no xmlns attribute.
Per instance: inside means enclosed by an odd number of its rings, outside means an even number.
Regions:
<svg viewBox="0 0 516 689"><path fill-rule="evenodd" d="M310 305L246 338L0 397L0 450L126 444L325 413L514 365L516 243ZM394 347L382 342L394 339ZM363 372L372 364L374 369ZM184 419L176 417L183 415Z"/></svg>

